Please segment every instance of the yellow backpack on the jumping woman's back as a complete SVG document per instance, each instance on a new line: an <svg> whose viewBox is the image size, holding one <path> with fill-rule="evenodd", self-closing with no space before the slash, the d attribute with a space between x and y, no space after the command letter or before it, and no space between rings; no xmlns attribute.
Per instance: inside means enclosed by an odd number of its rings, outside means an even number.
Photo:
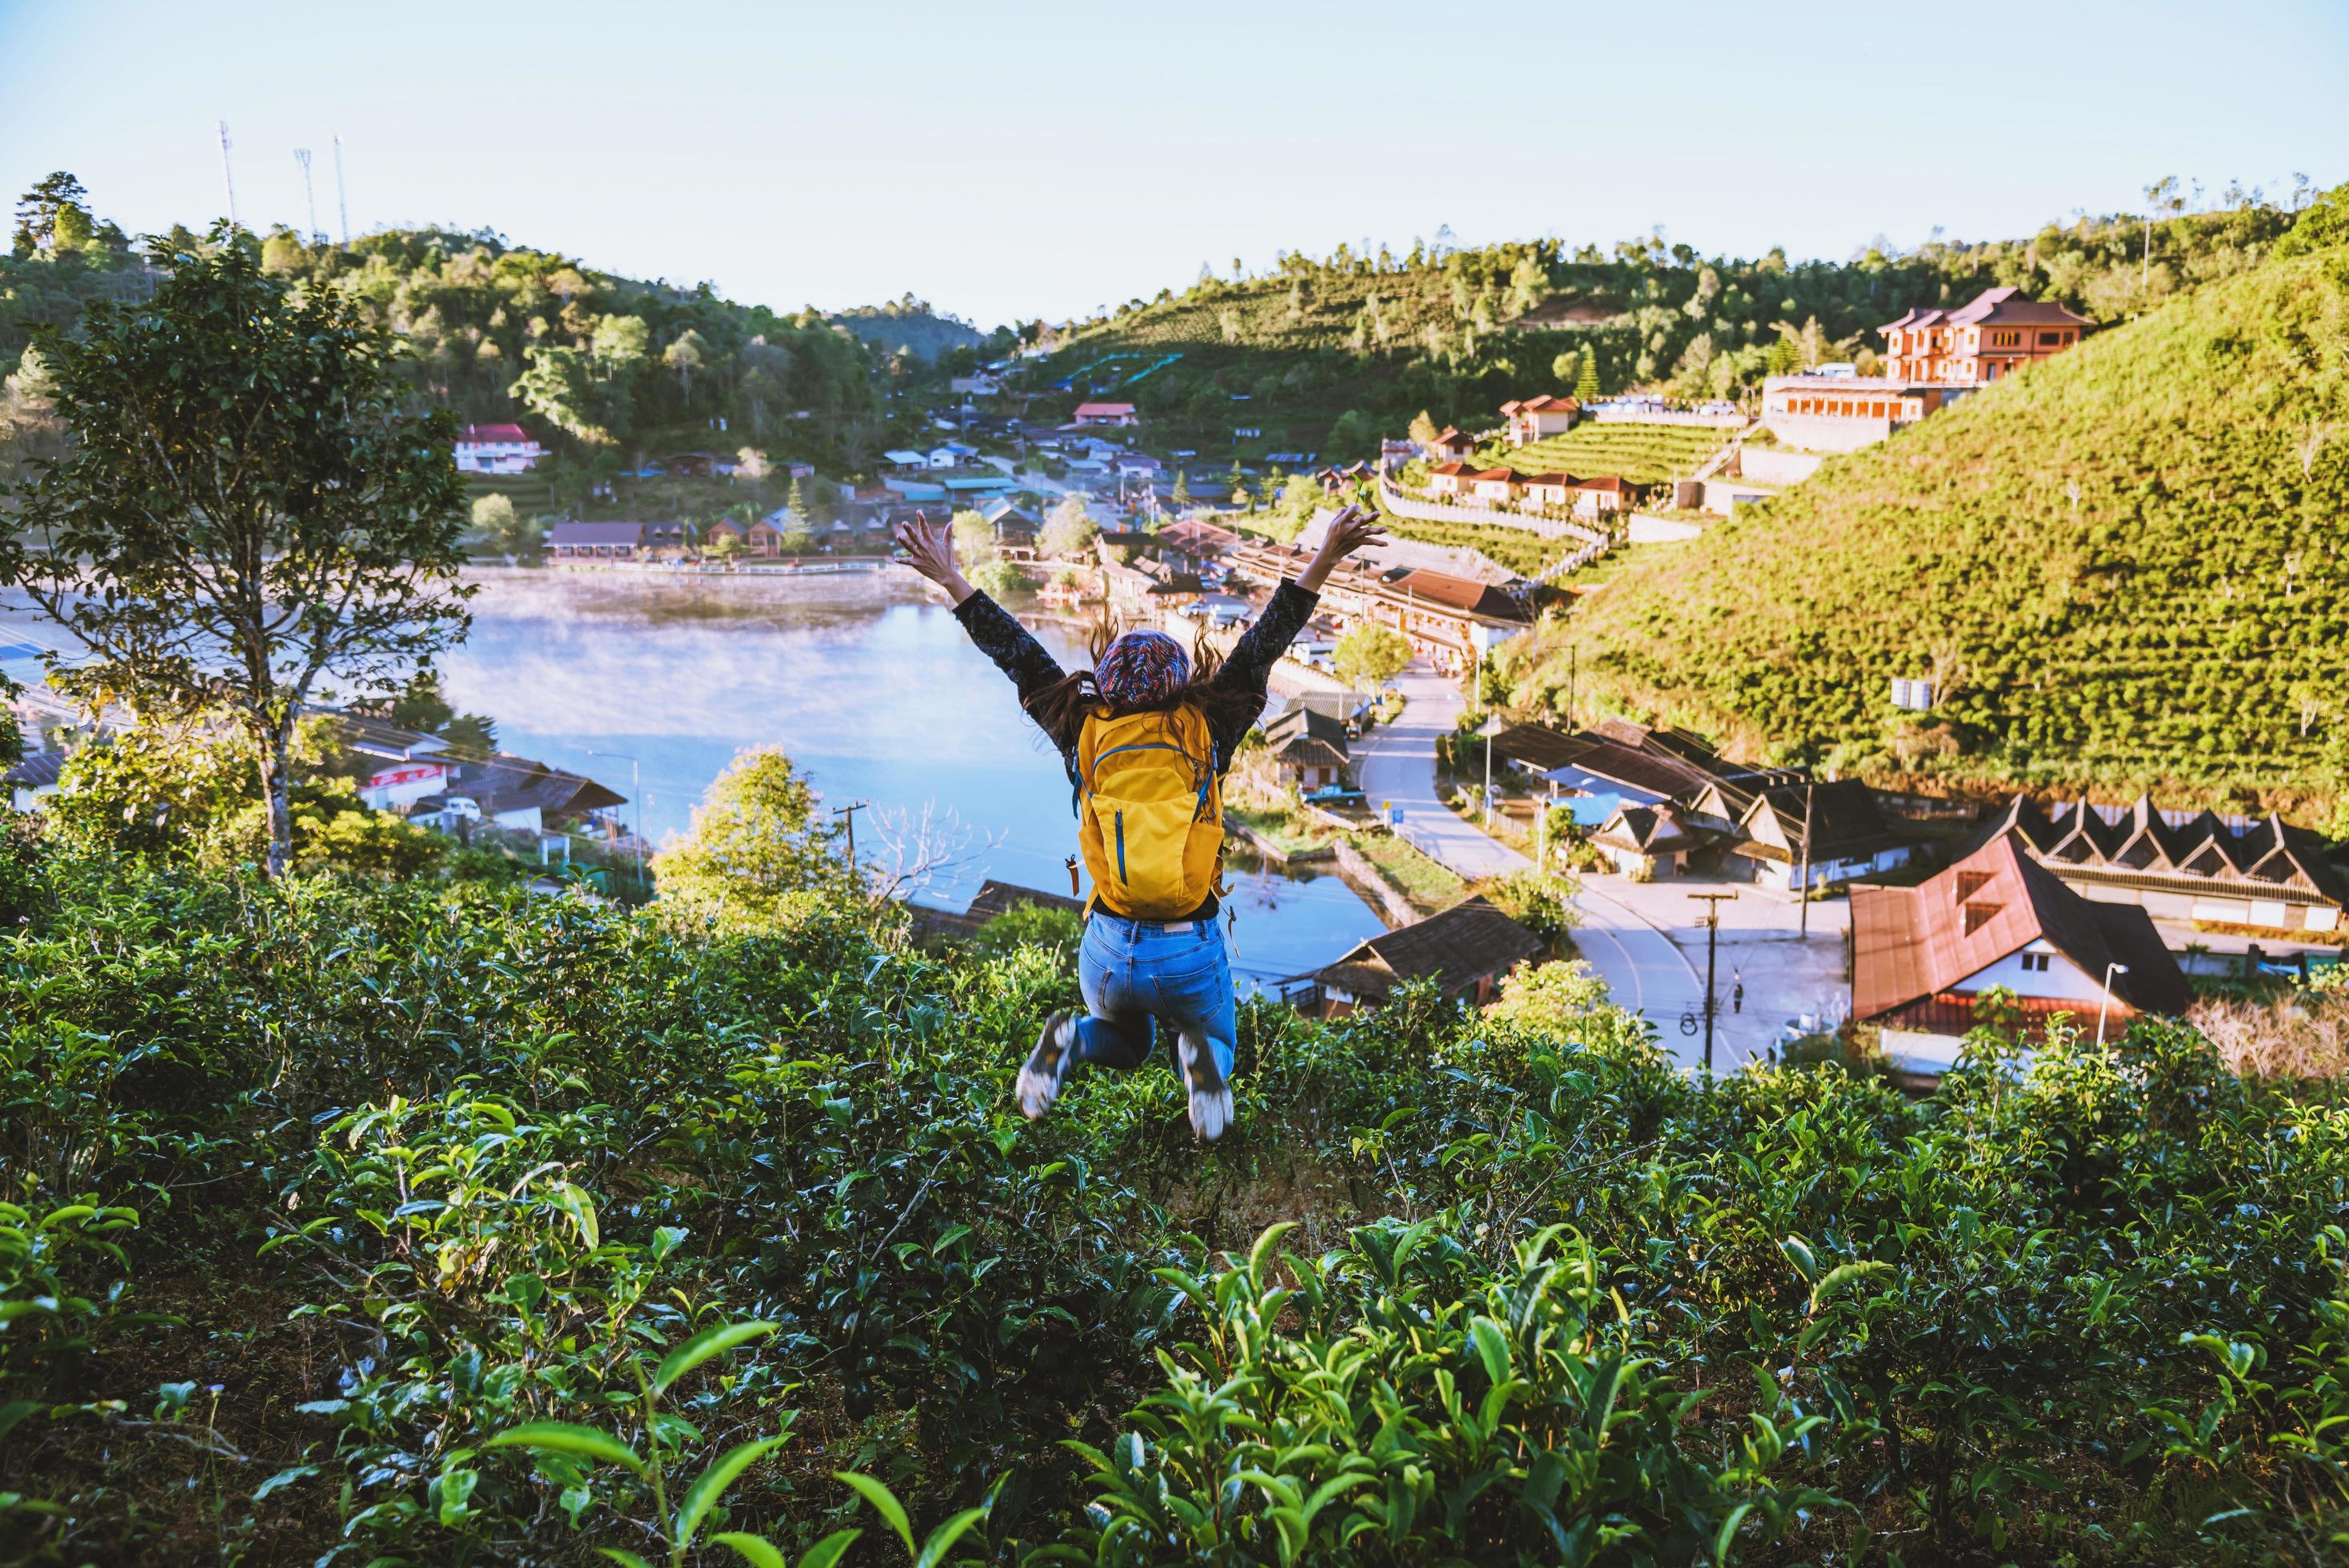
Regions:
<svg viewBox="0 0 2349 1568"><path fill-rule="evenodd" d="M1132 920L1177 920L1217 890L1224 791L1196 707L1092 714L1076 739L1076 840L1092 901Z"/></svg>

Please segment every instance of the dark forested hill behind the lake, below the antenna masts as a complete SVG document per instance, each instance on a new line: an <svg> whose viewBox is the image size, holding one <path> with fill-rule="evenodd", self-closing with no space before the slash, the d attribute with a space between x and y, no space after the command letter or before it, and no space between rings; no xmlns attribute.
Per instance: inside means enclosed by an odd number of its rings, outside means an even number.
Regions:
<svg viewBox="0 0 2349 1568"><path fill-rule="evenodd" d="M174 242L195 237L174 230ZM87 211L16 251L0 258L0 376L19 371L38 326L70 326L96 298L139 298L155 277L143 246ZM388 230L308 246L275 232L261 251L298 286L364 300L404 340L418 390L458 420L526 423L571 465L752 444L855 472L888 444L874 352L815 310L618 277L498 235ZM19 383L0 404L19 444L40 439L28 401Z"/></svg>

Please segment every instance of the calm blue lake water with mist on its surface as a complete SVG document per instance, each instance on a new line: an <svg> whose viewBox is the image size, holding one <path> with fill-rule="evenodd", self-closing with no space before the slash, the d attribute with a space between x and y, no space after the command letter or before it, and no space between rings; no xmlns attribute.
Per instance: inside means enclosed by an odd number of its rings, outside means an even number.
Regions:
<svg viewBox="0 0 2349 1568"><path fill-rule="evenodd" d="M472 636L442 660L449 699L496 718L505 751L637 796L648 843L686 831L735 751L773 744L829 803L874 803L857 819L860 852L923 812L968 836L923 904L961 908L987 878L1069 885L1076 819L1059 756L911 577L477 580ZM1062 664L1083 657L1071 631L1031 624ZM637 758L639 789L622 756ZM1233 967L1252 981L1313 969L1384 930L1334 876L1233 864L1231 901Z"/></svg>

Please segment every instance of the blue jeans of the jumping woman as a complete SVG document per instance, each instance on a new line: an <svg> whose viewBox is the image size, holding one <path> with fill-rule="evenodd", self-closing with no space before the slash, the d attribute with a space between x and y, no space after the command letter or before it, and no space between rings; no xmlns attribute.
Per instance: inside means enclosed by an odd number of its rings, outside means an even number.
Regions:
<svg viewBox="0 0 2349 1568"><path fill-rule="evenodd" d="M1071 1061L1139 1068L1151 1059L1156 1023L1165 1023L1172 1030L1167 1047L1179 1035L1205 1035L1214 1066L1231 1077L1231 1047L1238 1038L1231 955L1214 920L1193 920L1191 930L1170 932L1158 920L1095 911L1076 953L1076 986L1092 1016L1076 1021Z"/></svg>

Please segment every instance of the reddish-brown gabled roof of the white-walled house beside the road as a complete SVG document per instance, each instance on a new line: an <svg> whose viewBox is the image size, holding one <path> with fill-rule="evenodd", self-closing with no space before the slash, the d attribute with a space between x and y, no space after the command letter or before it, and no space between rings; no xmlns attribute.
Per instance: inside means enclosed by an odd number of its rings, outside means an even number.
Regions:
<svg viewBox="0 0 2349 1568"><path fill-rule="evenodd" d="M2187 981L2138 904L2095 904L2001 833L1919 887L1851 890L1851 1014L1875 1019L1931 998L2034 941L2069 958L2138 1012L2182 1012Z"/></svg>

